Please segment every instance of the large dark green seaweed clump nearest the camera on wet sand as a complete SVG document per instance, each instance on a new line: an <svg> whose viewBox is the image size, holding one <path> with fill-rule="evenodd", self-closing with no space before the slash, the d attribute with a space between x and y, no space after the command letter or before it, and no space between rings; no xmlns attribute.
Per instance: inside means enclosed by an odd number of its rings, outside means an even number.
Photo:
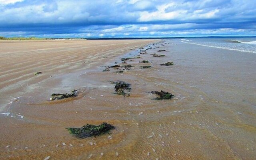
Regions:
<svg viewBox="0 0 256 160"><path fill-rule="evenodd" d="M110 130L115 129L114 126L111 124L107 124L106 122L95 126L91 124L86 124L85 126L82 126L81 128L66 128L70 134L73 134L77 138L83 139L88 137L96 137L100 134L108 133Z"/></svg>

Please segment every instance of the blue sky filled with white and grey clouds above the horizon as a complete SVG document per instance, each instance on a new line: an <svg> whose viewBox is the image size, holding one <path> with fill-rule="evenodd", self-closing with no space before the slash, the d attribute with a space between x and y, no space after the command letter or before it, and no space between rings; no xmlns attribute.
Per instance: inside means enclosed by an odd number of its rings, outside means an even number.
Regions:
<svg viewBox="0 0 256 160"><path fill-rule="evenodd" d="M256 0L0 0L0 36L256 36Z"/></svg>

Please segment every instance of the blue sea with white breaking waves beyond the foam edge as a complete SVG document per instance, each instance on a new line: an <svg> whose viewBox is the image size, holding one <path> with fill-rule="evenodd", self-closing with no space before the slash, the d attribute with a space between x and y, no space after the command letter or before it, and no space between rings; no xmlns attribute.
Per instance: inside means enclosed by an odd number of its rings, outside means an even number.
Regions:
<svg viewBox="0 0 256 160"><path fill-rule="evenodd" d="M185 38L181 41L188 44L256 53L256 37Z"/></svg>

